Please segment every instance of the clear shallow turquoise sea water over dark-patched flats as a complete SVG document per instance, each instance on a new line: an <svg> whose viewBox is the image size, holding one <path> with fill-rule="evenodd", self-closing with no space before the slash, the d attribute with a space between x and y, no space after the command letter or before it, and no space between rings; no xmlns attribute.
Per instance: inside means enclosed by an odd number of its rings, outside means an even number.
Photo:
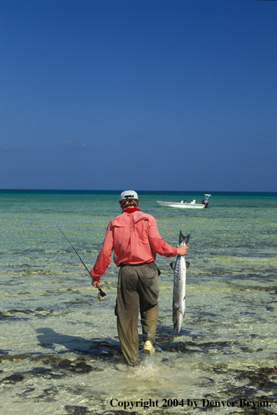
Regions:
<svg viewBox="0 0 277 415"><path fill-rule="evenodd" d="M156 201L199 203L204 192L139 192L166 242L191 232L186 316L174 335L172 259L157 255L163 353L123 371L118 269L102 277L99 302L57 230L91 269L120 191L0 192L0 414L277 413L277 194L210 193L208 209L181 210Z"/></svg>

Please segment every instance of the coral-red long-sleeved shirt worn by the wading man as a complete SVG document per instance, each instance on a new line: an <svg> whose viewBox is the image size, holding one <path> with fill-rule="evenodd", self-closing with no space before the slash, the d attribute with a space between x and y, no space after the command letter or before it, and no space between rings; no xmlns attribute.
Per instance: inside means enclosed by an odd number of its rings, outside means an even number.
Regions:
<svg viewBox="0 0 277 415"><path fill-rule="evenodd" d="M129 213L132 211L132 213ZM159 234L157 222L153 216L127 209L108 224L106 236L90 274L98 281L113 260L120 264L142 264L156 259L156 253L167 258L177 255L177 248L166 244Z"/></svg>

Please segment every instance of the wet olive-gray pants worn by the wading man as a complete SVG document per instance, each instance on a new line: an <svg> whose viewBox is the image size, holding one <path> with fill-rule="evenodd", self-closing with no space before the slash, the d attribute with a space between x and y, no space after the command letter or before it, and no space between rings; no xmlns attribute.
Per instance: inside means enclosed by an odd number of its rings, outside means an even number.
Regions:
<svg viewBox="0 0 277 415"><path fill-rule="evenodd" d="M118 297L115 305L118 336L125 363L139 363L139 309L143 342L155 346L159 314L159 269L154 262L142 265L122 265L118 275Z"/></svg>

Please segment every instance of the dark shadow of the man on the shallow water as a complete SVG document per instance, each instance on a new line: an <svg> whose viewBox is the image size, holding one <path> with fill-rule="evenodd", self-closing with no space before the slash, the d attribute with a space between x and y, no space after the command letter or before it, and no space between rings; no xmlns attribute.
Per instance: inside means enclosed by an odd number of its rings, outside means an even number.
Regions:
<svg viewBox="0 0 277 415"><path fill-rule="evenodd" d="M37 339L43 349L55 351L55 345L60 344L66 348L66 352L94 357L112 358L120 356L121 353L120 344L115 339L85 339L79 336L62 335L52 328L38 328L36 333L38 333Z"/></svg>

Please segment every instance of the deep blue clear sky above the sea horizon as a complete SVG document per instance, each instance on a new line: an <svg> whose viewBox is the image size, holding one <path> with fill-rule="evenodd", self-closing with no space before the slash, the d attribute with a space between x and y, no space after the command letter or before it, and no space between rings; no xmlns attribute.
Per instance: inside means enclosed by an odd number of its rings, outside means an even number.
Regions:
<svg viewBox="0 0 277 415"><path fill-rule="evenodd" d="M0 1L0 189L277 192L276 21L276 1Z"/></svg>

